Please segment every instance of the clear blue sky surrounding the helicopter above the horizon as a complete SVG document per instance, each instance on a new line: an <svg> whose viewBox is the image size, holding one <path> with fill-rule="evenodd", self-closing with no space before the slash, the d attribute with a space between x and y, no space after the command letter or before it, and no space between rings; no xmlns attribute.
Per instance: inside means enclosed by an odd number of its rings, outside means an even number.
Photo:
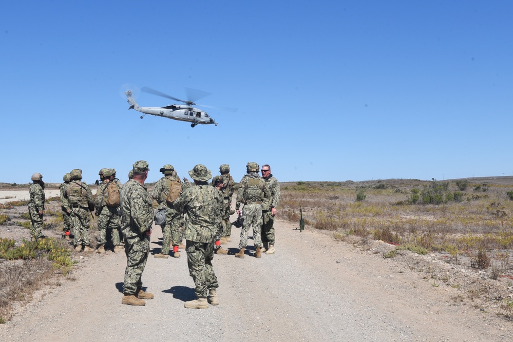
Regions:
<svg viewBox="0 0 513 342"><path fill-rule="evenodd" d="M0 182L147 182L173 164L270 164L281 181L513 174L511 1L9 1ZM147 86L219 123L128 110ZM141 106L173 101L139 92Z"/></svg>

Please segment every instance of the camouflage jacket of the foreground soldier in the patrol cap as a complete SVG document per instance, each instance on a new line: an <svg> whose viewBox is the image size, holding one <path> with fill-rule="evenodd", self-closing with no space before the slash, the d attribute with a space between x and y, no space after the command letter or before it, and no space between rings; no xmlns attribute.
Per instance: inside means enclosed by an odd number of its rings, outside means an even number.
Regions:
<svg viewBox="0 0 513 342"><path fill-rule="evenodd" d="M140 236L151 228L154 212L148 190L134 179L123 185L121 197L121 230L127 237Z"/></svg>

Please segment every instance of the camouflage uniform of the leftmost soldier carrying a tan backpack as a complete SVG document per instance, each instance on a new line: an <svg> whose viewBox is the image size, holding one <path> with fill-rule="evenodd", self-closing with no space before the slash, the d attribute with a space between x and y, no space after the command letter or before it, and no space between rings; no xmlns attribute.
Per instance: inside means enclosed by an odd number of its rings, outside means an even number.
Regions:
<svg viewBox="0 0 513 342"><path fill-rule="evenodd" d="M96 216L98 217L98 230L100 236L98 237L98 244L104 246L107 243L107 229L110 230L110 237L113 246L119 246L120 237L119 231L121 227L121 220L119 217L119 206L109 207L107 205L109 182L105 180L100 183L96 191Z"/></svg>

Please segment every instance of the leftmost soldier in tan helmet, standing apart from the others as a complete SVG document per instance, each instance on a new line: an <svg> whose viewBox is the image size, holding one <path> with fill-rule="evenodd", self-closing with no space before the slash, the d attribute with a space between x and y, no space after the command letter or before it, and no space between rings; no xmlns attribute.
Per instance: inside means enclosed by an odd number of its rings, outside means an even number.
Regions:
<svg viewBox="0 0 513 342"><path fill-rule="evenodd" d="M43 211L45 210L45 182L43 175L36 172L32 175L32 185L29 189L30 200L28 202L30 216L30 235L32 241L43 238L41 230L43 230Z"/></svg>

